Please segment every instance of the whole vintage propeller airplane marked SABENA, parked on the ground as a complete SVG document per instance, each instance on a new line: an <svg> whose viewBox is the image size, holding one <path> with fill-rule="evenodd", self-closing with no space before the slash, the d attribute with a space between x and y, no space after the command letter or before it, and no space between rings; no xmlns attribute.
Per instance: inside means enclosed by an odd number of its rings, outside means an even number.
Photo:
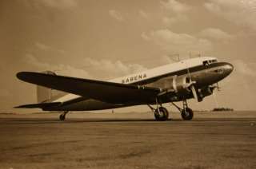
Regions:
<svg viewBox="0 0 256 169"><path fill-rule="evenodd" d="M154 112L155 120L168 120L169 112L162 104L182 101L183 108L177 104L174 106L181 112L183 120L191 120L194 113L186 100L194 98L200 102L205 96L210 96L218 87L218 81L227 77L233 69L233 65L218 62L215 57L196 57L111 81L63 77L50 71L20 72L17 73L18 79L38 85L38 103L15 108L60 111L59 119L65 120L69 111L146 104Z"/></svg>

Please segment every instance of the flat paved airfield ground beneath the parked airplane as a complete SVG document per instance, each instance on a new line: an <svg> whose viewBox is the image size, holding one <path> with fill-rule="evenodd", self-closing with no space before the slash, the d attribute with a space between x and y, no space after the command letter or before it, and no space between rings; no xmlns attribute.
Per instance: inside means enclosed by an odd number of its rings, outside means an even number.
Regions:
<svg viewBox="0 0 256 169"><path fill-rule="evenodd" d="M0 116L0 168L256 168L256 115Z"/></svg>

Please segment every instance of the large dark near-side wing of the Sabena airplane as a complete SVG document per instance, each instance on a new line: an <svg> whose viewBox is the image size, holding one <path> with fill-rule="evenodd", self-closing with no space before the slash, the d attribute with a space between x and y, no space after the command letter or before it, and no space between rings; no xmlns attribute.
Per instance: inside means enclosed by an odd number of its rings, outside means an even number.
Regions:
<svg viewBox="0 0 256 169"><path fill-rule="evenodd" d="M46 88L54 88L111 104L147 103L149 100L154 100L160 92L160 88L124 85L45 73L20 72L17 73L17 77L35 85L42 85Z"/></svg>

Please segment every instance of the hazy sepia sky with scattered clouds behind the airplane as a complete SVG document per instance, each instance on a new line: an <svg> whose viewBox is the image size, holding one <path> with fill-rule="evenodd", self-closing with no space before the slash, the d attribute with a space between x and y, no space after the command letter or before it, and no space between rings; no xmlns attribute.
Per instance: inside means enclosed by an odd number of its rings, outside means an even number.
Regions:
<svg viewBox="0 0 256 169"><path fill-rule="evenodd" d="M234 65L194 109L256 109L256 0L2 0L0 106L36 103L20 71L108 80L170 64L218 57ZM144 111L146 106L125 108Z"/></svg>

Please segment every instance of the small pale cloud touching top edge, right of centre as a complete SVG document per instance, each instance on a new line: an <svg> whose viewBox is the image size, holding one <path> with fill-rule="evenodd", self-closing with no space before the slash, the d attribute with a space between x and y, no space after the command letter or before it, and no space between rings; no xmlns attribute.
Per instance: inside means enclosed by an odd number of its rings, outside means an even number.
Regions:
<svg viewBox="0 0 256 169"><path fill-rule="evenodd" d="M168 0L167 2L161 2L162 7L167 10L172 10L174 13L181 14L186 13L190 10L190 6L187 6L185 3L178 2L176 0Z"/></svg>

